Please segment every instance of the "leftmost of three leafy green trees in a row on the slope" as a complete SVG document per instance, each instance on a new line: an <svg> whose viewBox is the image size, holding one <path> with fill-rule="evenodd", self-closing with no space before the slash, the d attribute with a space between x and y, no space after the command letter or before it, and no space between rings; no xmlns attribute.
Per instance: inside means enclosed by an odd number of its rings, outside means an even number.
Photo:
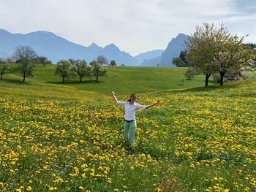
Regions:
<svg viewBox="0 0 256 192"><path fill-rule="evenodd" d="M65 78L75 77L76 74L76 67L70 60L61 60L58 61L55 74L62 77L62 82L64 82Z"/></svg>

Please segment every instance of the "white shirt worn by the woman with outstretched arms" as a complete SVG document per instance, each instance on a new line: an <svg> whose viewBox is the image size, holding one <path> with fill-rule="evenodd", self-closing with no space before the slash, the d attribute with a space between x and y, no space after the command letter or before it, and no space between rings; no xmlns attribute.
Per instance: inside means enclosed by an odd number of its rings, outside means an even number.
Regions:
<svg viewBox="0 0 256 192"><path fill-rule="evenodd" d="M129 101L116 101L118 105L124 105L124 119L135 120L135 114L138 109L146 110L146 105L129 104Z"/></svg>

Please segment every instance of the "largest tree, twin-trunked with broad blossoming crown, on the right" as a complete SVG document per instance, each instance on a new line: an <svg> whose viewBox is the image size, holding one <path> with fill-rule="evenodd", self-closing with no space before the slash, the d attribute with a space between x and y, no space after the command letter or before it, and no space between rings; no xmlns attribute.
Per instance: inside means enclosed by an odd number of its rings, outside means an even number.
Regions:
<svg viewBox="0 0 256 192"><path fill-rule="evenodd" d="M206 75L206 86L213 72L219 72L220 85L223 85L227 71L241 69L249 61L250 51L242 44L243 40L244 37L230 34L224 23L220 23L219 28L208 23L196 26L186 42L189 64Z"/></svg>

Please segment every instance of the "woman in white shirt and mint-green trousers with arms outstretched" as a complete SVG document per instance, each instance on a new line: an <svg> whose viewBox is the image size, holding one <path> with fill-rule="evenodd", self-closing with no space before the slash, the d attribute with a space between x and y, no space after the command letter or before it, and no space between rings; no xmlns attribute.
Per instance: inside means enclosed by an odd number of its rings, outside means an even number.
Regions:
<svg viewBox="0 0 256 192"><path fill-rule="evenodd" d="M153 107L155 104L158 104L160 101L156 101L151 105L140 105L135 101L137 96L133 93L130 96L128 101L118 101L115 96L115 92L112 91L113 100L116 101L118 105L124 105L124 139L126 139L129 143L133 143L135 141L135 132L136 132L136 119L135 113L138 109L146 110L150 107Z"/></svg>

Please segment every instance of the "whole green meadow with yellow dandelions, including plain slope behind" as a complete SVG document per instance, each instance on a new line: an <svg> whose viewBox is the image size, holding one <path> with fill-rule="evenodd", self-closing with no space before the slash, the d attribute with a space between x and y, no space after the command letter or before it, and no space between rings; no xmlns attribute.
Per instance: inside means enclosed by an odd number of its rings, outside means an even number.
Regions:
<svg viewBox="0 0 256 192"><path fill-rule="evenodd" d="M256 191L256 82L203 88L181 85L185 69L127 66L62 84L38 69L0 82L0 191ZM132 150L111 88L161 100L138 112Z"/></svg>

